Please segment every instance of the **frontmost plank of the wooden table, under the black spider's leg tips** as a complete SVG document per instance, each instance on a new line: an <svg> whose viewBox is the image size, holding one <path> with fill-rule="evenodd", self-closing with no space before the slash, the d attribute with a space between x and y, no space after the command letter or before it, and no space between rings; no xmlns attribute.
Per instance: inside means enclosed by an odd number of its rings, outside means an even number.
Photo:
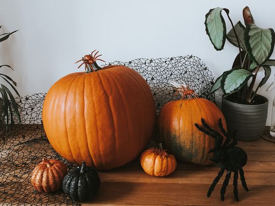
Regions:
<svg viewBox="0 0 275 206"><path fill-rule="evenodd" d="M237 202L233 187L227 188L225 201L219 197L217 186L211 197L206 197L208 184L179 183L102 183L98 195L91 203L143 204L143 205L232 205ZM271 205L274 185L251 185L246 192L239 187L240 205Z"/></svg>

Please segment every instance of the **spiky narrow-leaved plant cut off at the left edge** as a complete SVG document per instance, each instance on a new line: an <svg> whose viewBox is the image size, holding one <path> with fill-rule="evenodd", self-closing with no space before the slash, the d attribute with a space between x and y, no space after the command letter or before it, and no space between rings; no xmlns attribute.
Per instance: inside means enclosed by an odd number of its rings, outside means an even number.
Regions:
<svg viewBox="0 0 275 206"><path fill-rule="evenodd" d="M2 26L0 26L0 28L1 27ZM0 42L7 40L10 37L10 35L12 35L17 31L14 31L12 33L1 34ZM0 68L5 68L5 67L12 69L9 65L0 65ZM0 79L2 79L3 82L6 82L7 84L9 84L12 90L19 96L19 93L14 87L16 86L16 82L13 81L11 77L9 77L8 75L2 72L0 73L0 77L1 77ZM6 130L8 130L9 126L12 127L14 125L14 119L13 119L14 114L16 115L18 121L21 122L18 106L17 106L17 103L15 102L13 94L5 84L0 83L0 126L6 125Z"/></svg>

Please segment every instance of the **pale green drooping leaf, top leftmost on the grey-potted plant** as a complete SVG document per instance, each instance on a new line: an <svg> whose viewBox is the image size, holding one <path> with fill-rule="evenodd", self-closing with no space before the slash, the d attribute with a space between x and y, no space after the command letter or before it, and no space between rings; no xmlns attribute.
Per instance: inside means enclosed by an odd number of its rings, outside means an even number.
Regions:
<svg viewBox="0 0 275 206"><path fill-rule="evenodd" d="M205 31L216 50L222 50L226 40L226 23L222 11L229 13L228 9L210 9L205 15Z"/></svg>

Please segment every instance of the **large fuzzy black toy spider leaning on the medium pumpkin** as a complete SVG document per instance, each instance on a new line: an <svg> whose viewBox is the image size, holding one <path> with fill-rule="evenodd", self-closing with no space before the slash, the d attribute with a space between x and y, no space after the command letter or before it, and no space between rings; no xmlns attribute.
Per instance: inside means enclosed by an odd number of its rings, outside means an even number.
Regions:
<svg viewBox="0 0 275 206"><path fill-rule="evenodd" d="M246 164L248 160L248 156L246 155L244 150L242 150L238 146L235 146L237 144L236 131L234 131L233 137L230 137L223 127L222 119L219 119L218 126L221 129L224 136L226 137L226 140L223 144L224 137L222 134L218 133L213 128L209 127L205 123L204 119L202 119L202 125L204 127L201 127L197 123L195 123L195 126L200 131L202 131L203 133L215 139L215 147L209 150L208 153L214 153L213 158L210 160L212 160L219 167L221 167L221 170L219 170L212 185L209 187L209 190L207 192L207 197L210 197L219 179L221 179L222 175L224 174L224 171L227 170L226 178L224 180L224 183L221 189L221 199L223 201L225 200L226 187L228 186L231 172L234 172L233 193L234 193L235 199L239 201L238 188L237 188L238 173L240 173L240 180L243 188L246 191L249 191L248 187L246 186L244 172L242 170L242 167Z"/></svg>

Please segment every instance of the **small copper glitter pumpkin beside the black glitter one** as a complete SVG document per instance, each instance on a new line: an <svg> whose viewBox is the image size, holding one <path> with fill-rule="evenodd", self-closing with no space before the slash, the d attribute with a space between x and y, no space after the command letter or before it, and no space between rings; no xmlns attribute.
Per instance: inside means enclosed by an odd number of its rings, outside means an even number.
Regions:
<svg viewBox="0 0 275 206"><path fill-rule="evenodd" d="M66 165L59 160L42 159L33 170L31 182L40 192L50 193L58 191L67 174Z"/></svg>

